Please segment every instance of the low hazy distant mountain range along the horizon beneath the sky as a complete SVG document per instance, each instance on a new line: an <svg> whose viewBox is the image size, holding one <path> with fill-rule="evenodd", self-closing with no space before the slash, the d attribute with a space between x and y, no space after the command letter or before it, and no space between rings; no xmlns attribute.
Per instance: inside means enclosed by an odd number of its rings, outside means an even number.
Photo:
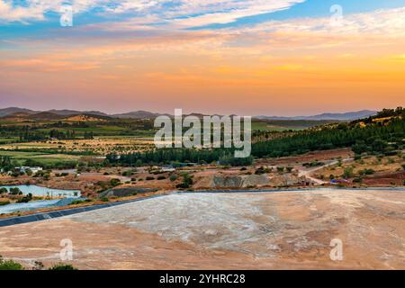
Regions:
<svg viewBox="0 0 405 288"><path fill-rule="evenodd" d="M322 113L318 115L311 115L311 116L293 116L293 117L282 117L282 116L256 116L254 118L260 120L312 120L312 121L320 121L320 120L337 120L337 121L353 121L356 119L366 118L369 116L375 115L376 111L370 110L362 110L357 112L343 112L343 113ZM99 116L100 118L122 118L122 119L154 119L159 115L168 115L169 114L160 114L155 112L148 112L148 111L135 111L135 112L126 112L126 113L117 113L117 114L107 114L104 112L99 111L76 111L76 110L49 110L49 111L34 111L26 108L18 108L18 107L8 107L4 109L0 109L0 117L22 117L25 116L26 118L32 120L40 120L40 119L51 119L57 120L62 119L68 116L77 116L77 115L85 115L85 117L91 116ZM203 114L201 113L192 113L191 115L195 115L197 117L202 117Z"/></svg>

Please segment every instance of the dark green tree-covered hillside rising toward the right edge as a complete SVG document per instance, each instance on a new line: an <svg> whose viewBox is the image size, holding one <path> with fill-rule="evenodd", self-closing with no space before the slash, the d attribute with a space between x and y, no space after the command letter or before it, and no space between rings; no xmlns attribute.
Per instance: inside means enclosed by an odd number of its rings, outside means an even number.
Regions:
<svg viewBox="0 0 405 288"><path fill-rule="evenodd" d="M302 130L253 145L255 157L286 157L313 150L350 147L358 153L395 154L404 146L405 110L384 109L375 116L348 123Z"/></svg>

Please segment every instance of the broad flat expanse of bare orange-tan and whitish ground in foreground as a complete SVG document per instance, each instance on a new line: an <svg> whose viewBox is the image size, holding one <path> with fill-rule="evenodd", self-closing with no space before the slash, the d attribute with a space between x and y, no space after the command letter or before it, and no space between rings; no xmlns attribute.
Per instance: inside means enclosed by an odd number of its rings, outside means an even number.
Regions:
<svg viewBox="0 0 405 288"><path fill-rule="evenodd" d="M0 229L0 255L82 269L404 269L405 192L185 193ZM332 239L343 260L331 260Z"/></svg>

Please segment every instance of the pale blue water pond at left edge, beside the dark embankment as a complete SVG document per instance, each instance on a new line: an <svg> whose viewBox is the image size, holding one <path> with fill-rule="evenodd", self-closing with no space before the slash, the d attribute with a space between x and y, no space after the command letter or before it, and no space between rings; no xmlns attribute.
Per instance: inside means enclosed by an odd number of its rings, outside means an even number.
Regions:
<svg viewBox="0 0 405 288"><path fill-rule="evenodd" d="M8 204L0 206L0 214L12 213L17 211L32 211L40 208L66 206L70 202L80 197L79 190L49 189L37 185L14 185L14 186L11 185L11 186L0 186L0 188L1 187L7 188L7 190L10 190L10 188L13 187L18 187L23 192L23 194L31 193L34 196L63 197L64 199L40 200L40 201L31 201L28 203Z"/></svg>

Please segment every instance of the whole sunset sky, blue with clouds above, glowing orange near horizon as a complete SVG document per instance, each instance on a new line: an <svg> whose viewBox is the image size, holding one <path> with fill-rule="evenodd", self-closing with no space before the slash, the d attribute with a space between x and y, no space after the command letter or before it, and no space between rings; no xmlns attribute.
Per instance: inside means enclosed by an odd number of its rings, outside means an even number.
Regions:
<svg viewBox="0 0 405 288"><path fill-rule="evenodd" d="M405 0L0 0L0 108L290 116L400 105Z"/></svg>

